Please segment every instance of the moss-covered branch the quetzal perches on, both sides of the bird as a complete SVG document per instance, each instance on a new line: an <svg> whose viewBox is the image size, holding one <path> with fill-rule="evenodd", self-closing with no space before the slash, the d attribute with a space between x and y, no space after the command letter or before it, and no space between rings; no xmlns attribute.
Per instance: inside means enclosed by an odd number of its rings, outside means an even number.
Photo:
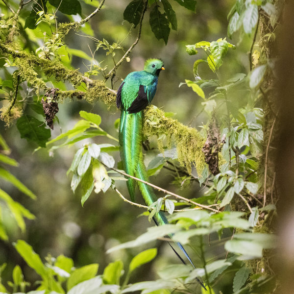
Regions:
<svg viewBox="0 0 294 294"><path fill-rule="evenodd" d="M116 91L106 87L104 80L94 80L83 76L77 70L66 68L57 60L39 58L33 53L19 50L15 44L13 44L13 47L10 47L0 41L0 52L7 57L12 56L19 67L21 80L26 80L31 84L36 89L37 94L39 94L40 91L46 93L50 90L46 83L38 77L38 73L34 69L41 68L42 72L47 77L52 78L57 82L68 80L75 88L82 83L85 83L87 87L85 92L79 90L57 90L55 93L58 96L59 101L69 97L85 99L89 103L95 103L100 100L109 107L115 105ZM160 137L162 134L165 134L169 146L171 146L171 142L174 140L179 163L184 165L188 172L191 173L192 162L196 167L198 175L200 175L205 167L205 159L201 150L205 143L205 139L200 137L199 132L195 128L183 125L177 120L165 117L164 112L155 106L147 107L144 113L145 135L148 137L152 135ZM163 151L162 140L158 140L158 147Z"/></svg>

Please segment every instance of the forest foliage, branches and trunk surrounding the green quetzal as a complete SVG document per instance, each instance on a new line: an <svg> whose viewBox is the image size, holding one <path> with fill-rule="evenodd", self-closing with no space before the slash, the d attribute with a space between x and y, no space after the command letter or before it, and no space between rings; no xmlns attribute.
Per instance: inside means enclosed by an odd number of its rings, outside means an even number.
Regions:
<svg viewBox="0 0 294 294"><path fill-rule="evenodd" d="M0 8L2 292L200 293L202 276L210 293L291 293L291 5L2 0ZM108 173L111 182L100 164L120 169L111 89L150 57L165 71L157 108L145 113L145 163L149 182L178 201L158 192L153 211L178 221L171 232L190 244L192 272L160 228L161 241L146 245L147 233L123 245L151 225L147 209L123 201L122 175ZM206 212L173 212L196 204Z"/></svg>

